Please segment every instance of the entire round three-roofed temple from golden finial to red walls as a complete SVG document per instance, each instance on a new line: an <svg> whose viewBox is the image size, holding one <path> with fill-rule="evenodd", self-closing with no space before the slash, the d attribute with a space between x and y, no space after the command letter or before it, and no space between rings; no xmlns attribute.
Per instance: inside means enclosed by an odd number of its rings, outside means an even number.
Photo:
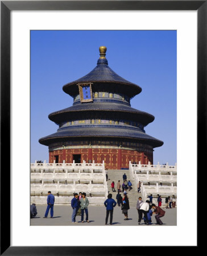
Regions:
<svg viewBox="0 0 207 256"><path fill-rule="evenodd" d="M142 91L117 75L101 46L97 66L88 75L63 86L73 97L69 108L49 114L59 125L56 133L39 139L49 147L49 163L102 163L124 169L132 163L153 163L153 148L162 141L147 135L144 127L154 116L131 108L130 100Z"/></svg>

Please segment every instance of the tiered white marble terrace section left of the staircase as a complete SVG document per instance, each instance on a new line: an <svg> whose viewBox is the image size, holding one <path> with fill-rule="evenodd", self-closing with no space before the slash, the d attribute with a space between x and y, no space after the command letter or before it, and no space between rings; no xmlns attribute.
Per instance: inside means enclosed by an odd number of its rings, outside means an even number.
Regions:
<svg viewBox="0 0 207 256"><path fill-rule="evenodd" d="M90 204L103 204L107 182L103 163L31 163L31 203L46 204L47 192L56 204L69 204L73 193L85 192Z"/></svg>

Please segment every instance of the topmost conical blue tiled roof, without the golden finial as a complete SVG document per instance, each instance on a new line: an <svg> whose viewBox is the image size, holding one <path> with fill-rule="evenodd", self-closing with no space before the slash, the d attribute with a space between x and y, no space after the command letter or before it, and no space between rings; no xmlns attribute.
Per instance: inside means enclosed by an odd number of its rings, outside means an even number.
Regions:
<svg viewBox="0 0 207 256"><path fill-rule="evenodd" d="M142 91L138 85L133 82L123 79L123 77L117 75L108 65L107 60L98 59L97 66L90 73L77 79L73 82L69 82L63 86L63 90L66 93L69 93L69 86L76 85L81 82L113 82L118 84L126 84L134 87L135 94L138 94Z"/></svg>

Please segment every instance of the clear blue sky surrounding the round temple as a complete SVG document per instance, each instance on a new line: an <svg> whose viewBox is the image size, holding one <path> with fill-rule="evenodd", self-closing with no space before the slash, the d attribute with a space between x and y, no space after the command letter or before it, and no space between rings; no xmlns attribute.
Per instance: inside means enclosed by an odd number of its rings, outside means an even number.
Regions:
<svg viewBox="0 0 207 256"><path fill-rule="evenodd" d="M176 31L31 31L31 162L48 162L48 147L38 142L58 129L48 115L73 104L63 85L92 71L106 46L109 67L142 88L131 107L155 116L145 127L164 142L154 148L154 164L174 165L176 41Z"/></svg>

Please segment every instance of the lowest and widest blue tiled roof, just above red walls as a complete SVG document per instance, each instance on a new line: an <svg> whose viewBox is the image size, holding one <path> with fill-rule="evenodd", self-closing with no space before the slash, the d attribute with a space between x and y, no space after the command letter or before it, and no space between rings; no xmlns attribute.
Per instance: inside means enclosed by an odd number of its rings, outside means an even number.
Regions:
<svg viewBox="0 0 207 256"><path fill-rule="evenodd" d="M127 129L126 127L68 127L68 129L60 129L57 133L48 135L39 139L41 144L48 145L51 140L57 141L60 138L73 138L73 137L100 137L100 138L129 138L138 139L139 141L148 142L153 147L162 146L163 142L143 133L139 129ZM58 140L59 141L59 140Z"/></svg>

